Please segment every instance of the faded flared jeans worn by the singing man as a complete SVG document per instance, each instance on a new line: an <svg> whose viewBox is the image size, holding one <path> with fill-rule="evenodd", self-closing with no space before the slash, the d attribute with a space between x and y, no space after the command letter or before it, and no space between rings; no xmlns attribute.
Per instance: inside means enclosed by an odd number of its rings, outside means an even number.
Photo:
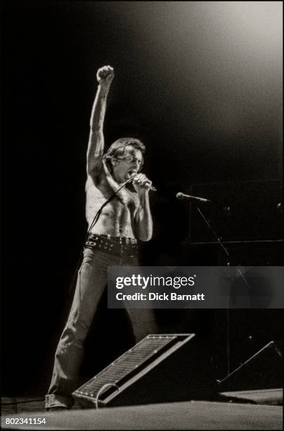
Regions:
<svg viewBox="0 0 284 431"><path fill-rule="evenodd" d="M84 249L67 324L56 349L53 375L46 395L46 408L74 404L72 392L79 387L84 340L108 283L108 266L137 266L137 257L121 257L98 249ZM156 332L153 310L127 309L136 342Z"/></svg>

